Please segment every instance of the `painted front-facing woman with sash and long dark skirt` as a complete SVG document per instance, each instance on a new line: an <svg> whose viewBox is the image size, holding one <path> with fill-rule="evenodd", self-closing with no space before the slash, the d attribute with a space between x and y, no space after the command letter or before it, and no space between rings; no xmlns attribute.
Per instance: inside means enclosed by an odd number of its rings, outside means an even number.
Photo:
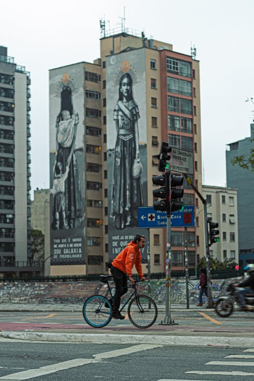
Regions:
<svg viewBox="0 0 254 381"><path fill-rule="evenodd" d="M111 216L116 229L138 226L138 207L142 206L139 153L139 108L133 99L129 73L121 76L113 119L116 129ZM134 168L135 166L135 168Z"/></svg>

